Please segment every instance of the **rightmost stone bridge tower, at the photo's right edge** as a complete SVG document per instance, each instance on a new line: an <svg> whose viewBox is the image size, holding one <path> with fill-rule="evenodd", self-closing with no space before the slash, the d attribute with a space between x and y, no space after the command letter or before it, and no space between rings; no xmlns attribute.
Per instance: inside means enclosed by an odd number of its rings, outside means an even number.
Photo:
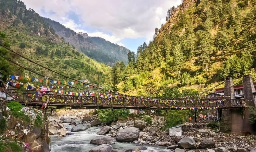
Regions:
<svg viewBox="0 0 256 152"><path fill-rule="evenodd" d="M253 85L251 75L243 76L243 92L244 92L244 101L246 106L255 106L256 91Z"/></svg>

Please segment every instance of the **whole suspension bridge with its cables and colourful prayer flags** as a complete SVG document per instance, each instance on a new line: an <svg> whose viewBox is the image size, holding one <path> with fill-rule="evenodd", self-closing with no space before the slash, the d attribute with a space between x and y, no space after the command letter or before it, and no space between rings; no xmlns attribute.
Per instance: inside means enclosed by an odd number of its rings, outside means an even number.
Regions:
<svg viewBox="0 0 256 152"><path fill-rule="evenodd" d="M5 47L0 44L0 46ZM197 110L197 109L228 109L228 108L243 108L243 101L237 99L231 99L231 96L195 96L195 97L178 97L178 98L158 98L158 97L134 97L117 92L102 89L100 87L83 83L79 80L69 78L58 72L55 72L43 65L35 63L30 59L16 53L15 51L5 47L11 53L14 53L21 58L27 60L29 63L34 63L49 72L54 72L64 79L70 79L75 82L88 85L90 87L98 89L97 93L87 93L82 90L82 93L70 93L67 91L52 91L38 90L38 89L21 89L15 88L10 83L13 80L9 80L6 85L6 101L16 101L26 106L33 107L54 107L54 108L87 108L87 109L179 109L179 110ZM6 58L3 55L0 57L7 61L16 64L30 72L33 72L48 81L53 81L52 78L43 74L40 74L30 67L21 65L12 59ZM223 82L222 82L223 83ZM31 84L31 83L30 83ZM30 85L27 84L27 85ZM48 83L49 84L49 83ZM68 86L72 83L64 83L63 85ZM47 86L45 86L47 88ZM43 87L42 87L43 88ZM49 87L48 87L49 88ZM75 87L73 87L75 88ZM79 89L79 88L78 88ZM103 90L103 92L99 92ZM213 89L213 88L212 88Z"/></svg>

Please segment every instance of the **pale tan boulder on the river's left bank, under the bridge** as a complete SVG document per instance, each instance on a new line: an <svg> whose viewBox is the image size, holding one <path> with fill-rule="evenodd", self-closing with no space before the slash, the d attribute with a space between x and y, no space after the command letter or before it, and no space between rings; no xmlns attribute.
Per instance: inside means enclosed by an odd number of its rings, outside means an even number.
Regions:
<svg viewBox="0 0 256 152"><path fill-rule="evenodd" d="M64 124L56 116L48 116L48 133L49 135L62 135L66 136L67 129Z"/></svg>

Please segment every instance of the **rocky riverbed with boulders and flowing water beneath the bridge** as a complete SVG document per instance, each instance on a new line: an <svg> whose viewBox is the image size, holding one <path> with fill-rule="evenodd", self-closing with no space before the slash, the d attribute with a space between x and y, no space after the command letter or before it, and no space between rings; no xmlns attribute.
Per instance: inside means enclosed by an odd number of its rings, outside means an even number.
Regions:
<svg viewBox="0 0 256 152"><path fill-rule="evenodd" d="M65 114L59 114L60 120L52 121L54 125L48 123L49 131L55 134L51 136L52 151L245 152L256 149L253 135L214 132L205 124L185 123L183 135L171 137L167 131L162 131L164 118L161 116L151 116L151 125L140 119L130 119L108 126L100 122L97 115ZM63 137L64 128L66 137Z"/></svg>

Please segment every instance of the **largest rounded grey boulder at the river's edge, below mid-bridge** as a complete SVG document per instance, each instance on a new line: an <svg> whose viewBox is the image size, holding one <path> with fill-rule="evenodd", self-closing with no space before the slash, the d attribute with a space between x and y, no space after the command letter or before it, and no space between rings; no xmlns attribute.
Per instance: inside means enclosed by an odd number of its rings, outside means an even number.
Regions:
<svg viewBox="0 0 256 152"><path fill-rule="evenodd" d="M117 132L116 138L118 141L132 142L139 137L139 129L135 127L125 128Z"/></svg>

